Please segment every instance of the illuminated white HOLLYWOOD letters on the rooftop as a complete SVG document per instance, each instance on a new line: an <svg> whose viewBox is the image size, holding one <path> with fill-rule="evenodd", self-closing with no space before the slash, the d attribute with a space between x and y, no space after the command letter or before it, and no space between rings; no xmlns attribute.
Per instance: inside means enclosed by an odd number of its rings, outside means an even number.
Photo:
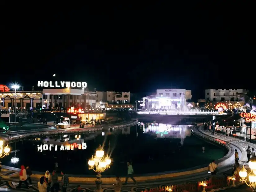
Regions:
<svg viewBox="0 0 256 192"><path fill-rule="evenodd" d="M62 88L86 88L86 82L75 82L75 81L38 81L38 87L62 87Z"/></svg>

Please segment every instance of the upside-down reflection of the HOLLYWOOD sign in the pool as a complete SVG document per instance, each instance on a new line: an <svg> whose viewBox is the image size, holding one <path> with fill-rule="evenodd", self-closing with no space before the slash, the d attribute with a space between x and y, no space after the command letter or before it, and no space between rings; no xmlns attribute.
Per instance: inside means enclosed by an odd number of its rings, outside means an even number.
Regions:
<svg viewBox="0 0 256 192"><path fill-rule="evenodd" d="M55 148L55 151L57 151L58 150L58 147L57 147L57 145L53 145L53 144L50 144L50 145L48 145L48 144L41 144L41 145L37 145L37 151L52 151L52 147L54 147ZM61 147L60 147L60 150L61 151L69 151L69 150L74 150L74 149L86 149L87 148L87 146L86 146L86 143L82 143L82 145L81 144L77 144L77 143L73 143L73 144L68 144L68 145L61 145Z"/></svg>

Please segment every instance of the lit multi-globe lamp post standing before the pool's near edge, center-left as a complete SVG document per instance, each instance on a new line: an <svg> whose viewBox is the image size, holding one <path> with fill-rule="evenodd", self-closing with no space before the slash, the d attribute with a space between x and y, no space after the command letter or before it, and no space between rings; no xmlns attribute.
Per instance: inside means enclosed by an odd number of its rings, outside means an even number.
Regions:
<svg viewBox="0 0 256 192"><path fill-rule="evenodd" d="M102 192L101 188L102 180L101 173L104 172L107 168L110 168L111 159L108 155L104 156L104 151L100 145L95 153L95 156L92 156L92 159L88 161L89 169L92 169L97 173L96 175L96 191Z"/></svg>

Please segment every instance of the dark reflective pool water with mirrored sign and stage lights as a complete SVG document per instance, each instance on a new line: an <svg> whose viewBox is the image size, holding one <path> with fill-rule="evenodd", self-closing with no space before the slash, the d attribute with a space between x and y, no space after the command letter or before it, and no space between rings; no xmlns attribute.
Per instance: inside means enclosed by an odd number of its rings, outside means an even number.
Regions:
<svg viewBox="0 0 256 192"><path fill-rule="evenodd" d="M133 162L135 174L143 174L191 168L226 154L223 148L191 135L191 125L141 122L111 132L31 137L28 141L16 142L16 146L11 144L19 162L11 163L14 152L1 160L4 165L20 168L25 164L40 172L52 171L58 163L58 170L68 174L95 175L88 170L87 162L99 144L113 159L102 175L126 175L127 160Z"/></svg>

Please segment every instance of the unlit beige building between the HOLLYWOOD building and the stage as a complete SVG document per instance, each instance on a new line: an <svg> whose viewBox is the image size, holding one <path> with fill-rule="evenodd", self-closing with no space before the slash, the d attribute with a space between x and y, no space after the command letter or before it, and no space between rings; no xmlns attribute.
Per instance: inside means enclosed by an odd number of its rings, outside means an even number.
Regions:
<svg viewBox="0 0 256 192"><path fill-rule="evenodd" d="M107 102L124 104L130 103L130 91L129 92L115 92L115 91L96 91L96 102Z"/></svg>

